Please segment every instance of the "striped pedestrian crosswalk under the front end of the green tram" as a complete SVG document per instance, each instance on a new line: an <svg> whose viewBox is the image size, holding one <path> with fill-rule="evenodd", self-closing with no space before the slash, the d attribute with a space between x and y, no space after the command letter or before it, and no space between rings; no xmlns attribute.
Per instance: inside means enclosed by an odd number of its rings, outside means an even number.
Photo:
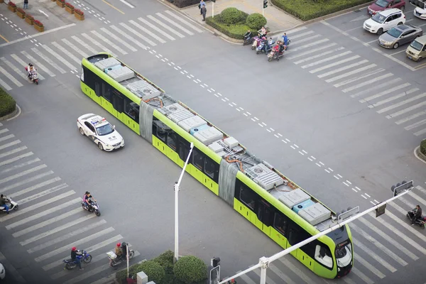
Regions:
<svg viewBox="0 0 426 284"><path fill-rule="evenodd" d="M416 186L412 192L387 204L381 217L371 212L351 222L349 227L354 241L354 268L339 281L347 284L373 284L381 279L393 278L398 269L415 263L426 256L425 229L411 226L405 215L416 204L426 204L426 190ZM318 278L304 266L296 266L293 256L285 256L270 263L268 284L332 283ZM238 283L260 283L260 270L237 278Z"/></svg>

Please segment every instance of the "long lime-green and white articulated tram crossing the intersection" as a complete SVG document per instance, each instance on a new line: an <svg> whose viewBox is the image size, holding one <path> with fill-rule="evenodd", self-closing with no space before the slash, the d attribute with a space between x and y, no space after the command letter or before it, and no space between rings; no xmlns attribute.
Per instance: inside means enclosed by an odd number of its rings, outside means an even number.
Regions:
<svg viewBox="0 0 426 284"><path fill-rule="evenodd" d="M194 143L187 173L283 249L336 224L315 197L112 55L82 60L81 88L180 167ZM349 226L292 254L317 275L340 278L354 263Z"/></svg>

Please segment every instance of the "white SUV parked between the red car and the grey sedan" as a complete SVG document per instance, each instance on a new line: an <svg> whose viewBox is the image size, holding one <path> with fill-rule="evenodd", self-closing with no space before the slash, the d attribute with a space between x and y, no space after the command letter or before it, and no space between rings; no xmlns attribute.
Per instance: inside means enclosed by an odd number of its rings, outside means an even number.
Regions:
<svg viewBox="0 0 426 284"><path fill-rule="evenodd" d="M376 13L373 17L364 22L364 30L370 33L381 35L383 31L388 31L394 26L403 25L405 23L405 15L400 9L388 9Z"/></svg>

